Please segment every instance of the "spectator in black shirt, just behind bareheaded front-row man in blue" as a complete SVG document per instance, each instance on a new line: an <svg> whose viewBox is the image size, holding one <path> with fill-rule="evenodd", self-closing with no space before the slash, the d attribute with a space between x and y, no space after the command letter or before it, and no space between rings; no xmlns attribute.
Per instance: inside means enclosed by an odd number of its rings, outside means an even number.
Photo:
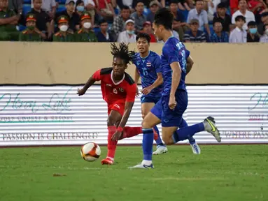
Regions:
<svg viewBox="0 0 268 201"><path fill-rule="evenodd" d="M214 18L213 18L213 24L214 22L218 22L218 21L220 21L221 24L223 24L223 31L226 31L227 33L229 33L231 17L230 15L227 15L226 13L225 3L219 3L217 6L217 12L215 13Z"/></svg>

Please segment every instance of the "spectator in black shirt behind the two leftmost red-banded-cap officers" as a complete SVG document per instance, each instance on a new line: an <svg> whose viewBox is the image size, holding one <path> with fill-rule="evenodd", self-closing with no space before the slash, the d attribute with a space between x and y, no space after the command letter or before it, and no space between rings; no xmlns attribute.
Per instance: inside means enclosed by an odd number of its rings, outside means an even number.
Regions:
<svg viewBox="0 0 268 201"><path fill-rule="evenodd" d="M41 36L44 40L50 40L53 33L50 15L42 10L42 0L34 0L33 4L34 8L31 8L30 13L36 16L36 31L43 33Z"/></svg>

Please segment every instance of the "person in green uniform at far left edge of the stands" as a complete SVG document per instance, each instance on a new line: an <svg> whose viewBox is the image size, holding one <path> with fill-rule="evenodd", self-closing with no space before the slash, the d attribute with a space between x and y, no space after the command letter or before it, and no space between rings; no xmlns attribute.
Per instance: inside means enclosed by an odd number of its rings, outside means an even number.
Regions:
<svg viewBox="0 0 268 201"><path fill-rule="evenodd" d="M18 40L20 32L16 25L20 15L8 9L8 0L0 0L0 40Z"/></svg>

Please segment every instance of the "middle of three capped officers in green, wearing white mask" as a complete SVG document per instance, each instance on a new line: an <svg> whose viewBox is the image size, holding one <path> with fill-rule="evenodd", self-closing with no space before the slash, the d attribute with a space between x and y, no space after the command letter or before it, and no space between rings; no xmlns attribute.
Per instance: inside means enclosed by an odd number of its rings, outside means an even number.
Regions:
<svg viewBox="0 0 268 201"><path fill-rule="evenodd" d="M53 41L55 42L74 42L73 33L69 31L69 17L62 15L57 19L59 31L54 34Z"/></svg>

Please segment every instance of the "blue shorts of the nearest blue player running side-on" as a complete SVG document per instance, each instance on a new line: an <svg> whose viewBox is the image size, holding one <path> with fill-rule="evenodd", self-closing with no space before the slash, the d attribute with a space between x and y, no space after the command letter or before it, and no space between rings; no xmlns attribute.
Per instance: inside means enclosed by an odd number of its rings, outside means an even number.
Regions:
<svg viewBox="0 0 268 201"><path fill-rule="evenodd" d="M179 127L183 119L183 113L188 105L187 91L179 90L175 94L177 105L174 110L169 108L169 95L162 96L155 106L150 110L162 121L162 127Z"/></svg>

